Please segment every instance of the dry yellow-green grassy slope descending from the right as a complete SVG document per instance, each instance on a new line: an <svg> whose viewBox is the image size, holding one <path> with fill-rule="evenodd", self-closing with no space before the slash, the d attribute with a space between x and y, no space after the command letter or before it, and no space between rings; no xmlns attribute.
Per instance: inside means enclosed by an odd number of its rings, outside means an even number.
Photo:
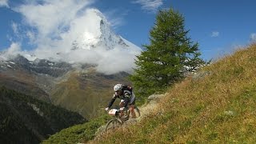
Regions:
<svg viewBox="0 0 256 144"><path fill-rule="evenodd" d="M256 142L256 45L175 84L158 110L93 143ZM125 136L125 140L123 136Z"/></svg>

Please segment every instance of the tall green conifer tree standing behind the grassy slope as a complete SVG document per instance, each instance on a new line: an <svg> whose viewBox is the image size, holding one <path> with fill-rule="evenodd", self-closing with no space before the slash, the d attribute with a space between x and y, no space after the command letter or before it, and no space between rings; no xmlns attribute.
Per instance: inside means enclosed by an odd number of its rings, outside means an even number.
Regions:
<svg viewBox="0 0 256 144"><path fill-rule="evenodd" d="M205 63L199 56L198 43L187 37L184 18L173 9L159 10L150 30L150 45L143 45L137 56L130 80L138 94L148 96L161 92L184 75Z"/></svg>

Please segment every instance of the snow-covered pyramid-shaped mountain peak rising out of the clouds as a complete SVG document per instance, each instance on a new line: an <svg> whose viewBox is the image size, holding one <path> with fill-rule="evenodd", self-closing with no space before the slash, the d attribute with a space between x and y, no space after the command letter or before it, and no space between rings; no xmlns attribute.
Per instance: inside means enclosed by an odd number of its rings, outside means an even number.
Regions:
<svg viewBox="0 0 256 144"><path fill-rule="evenodd" d="M88 30L85 28L84 31L78 34L78 38L72 42L72 50L93 50L99 47L106 50L113 50L118 47L120 49L140 51L138 46L128 42L120 35L114 34L114 31L110 28L110 23L99 10L93 9L88 13L94 15L94 19L92 20L94 22L92 23L96 23L96 25L94 25L94 29Z"/></svg>

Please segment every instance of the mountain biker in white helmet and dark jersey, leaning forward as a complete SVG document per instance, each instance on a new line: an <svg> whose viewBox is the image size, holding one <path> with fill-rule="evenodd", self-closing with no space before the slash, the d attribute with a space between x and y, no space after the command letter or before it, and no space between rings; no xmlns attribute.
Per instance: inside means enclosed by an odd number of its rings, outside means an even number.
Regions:
<svg viewBox="0 0 256 144"><path fill-rule="evenodd" d="M119 103L120 110L121 110L121 116L123 115L123 109L128 106L130 113L132 115L132 118L136 118L136 114L134 111L135 108L135 95L132 91L132 87L122 85L122 84L116 84L114 86L114 95L111 98L108 106L105 108L105 110L109 110L110 107L113 105L116 98L120 98L121 102Z"/></svg>

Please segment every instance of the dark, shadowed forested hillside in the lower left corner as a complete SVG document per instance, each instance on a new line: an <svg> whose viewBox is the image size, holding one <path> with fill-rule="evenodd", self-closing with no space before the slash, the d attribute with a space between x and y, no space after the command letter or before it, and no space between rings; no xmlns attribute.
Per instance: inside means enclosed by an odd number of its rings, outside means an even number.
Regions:
<svg viewBox="0 0 256 144"><path fill-rule="evenodd" d="M66 127L87 122L81 115L0 87L0 143L39 143Z"/></svg>

